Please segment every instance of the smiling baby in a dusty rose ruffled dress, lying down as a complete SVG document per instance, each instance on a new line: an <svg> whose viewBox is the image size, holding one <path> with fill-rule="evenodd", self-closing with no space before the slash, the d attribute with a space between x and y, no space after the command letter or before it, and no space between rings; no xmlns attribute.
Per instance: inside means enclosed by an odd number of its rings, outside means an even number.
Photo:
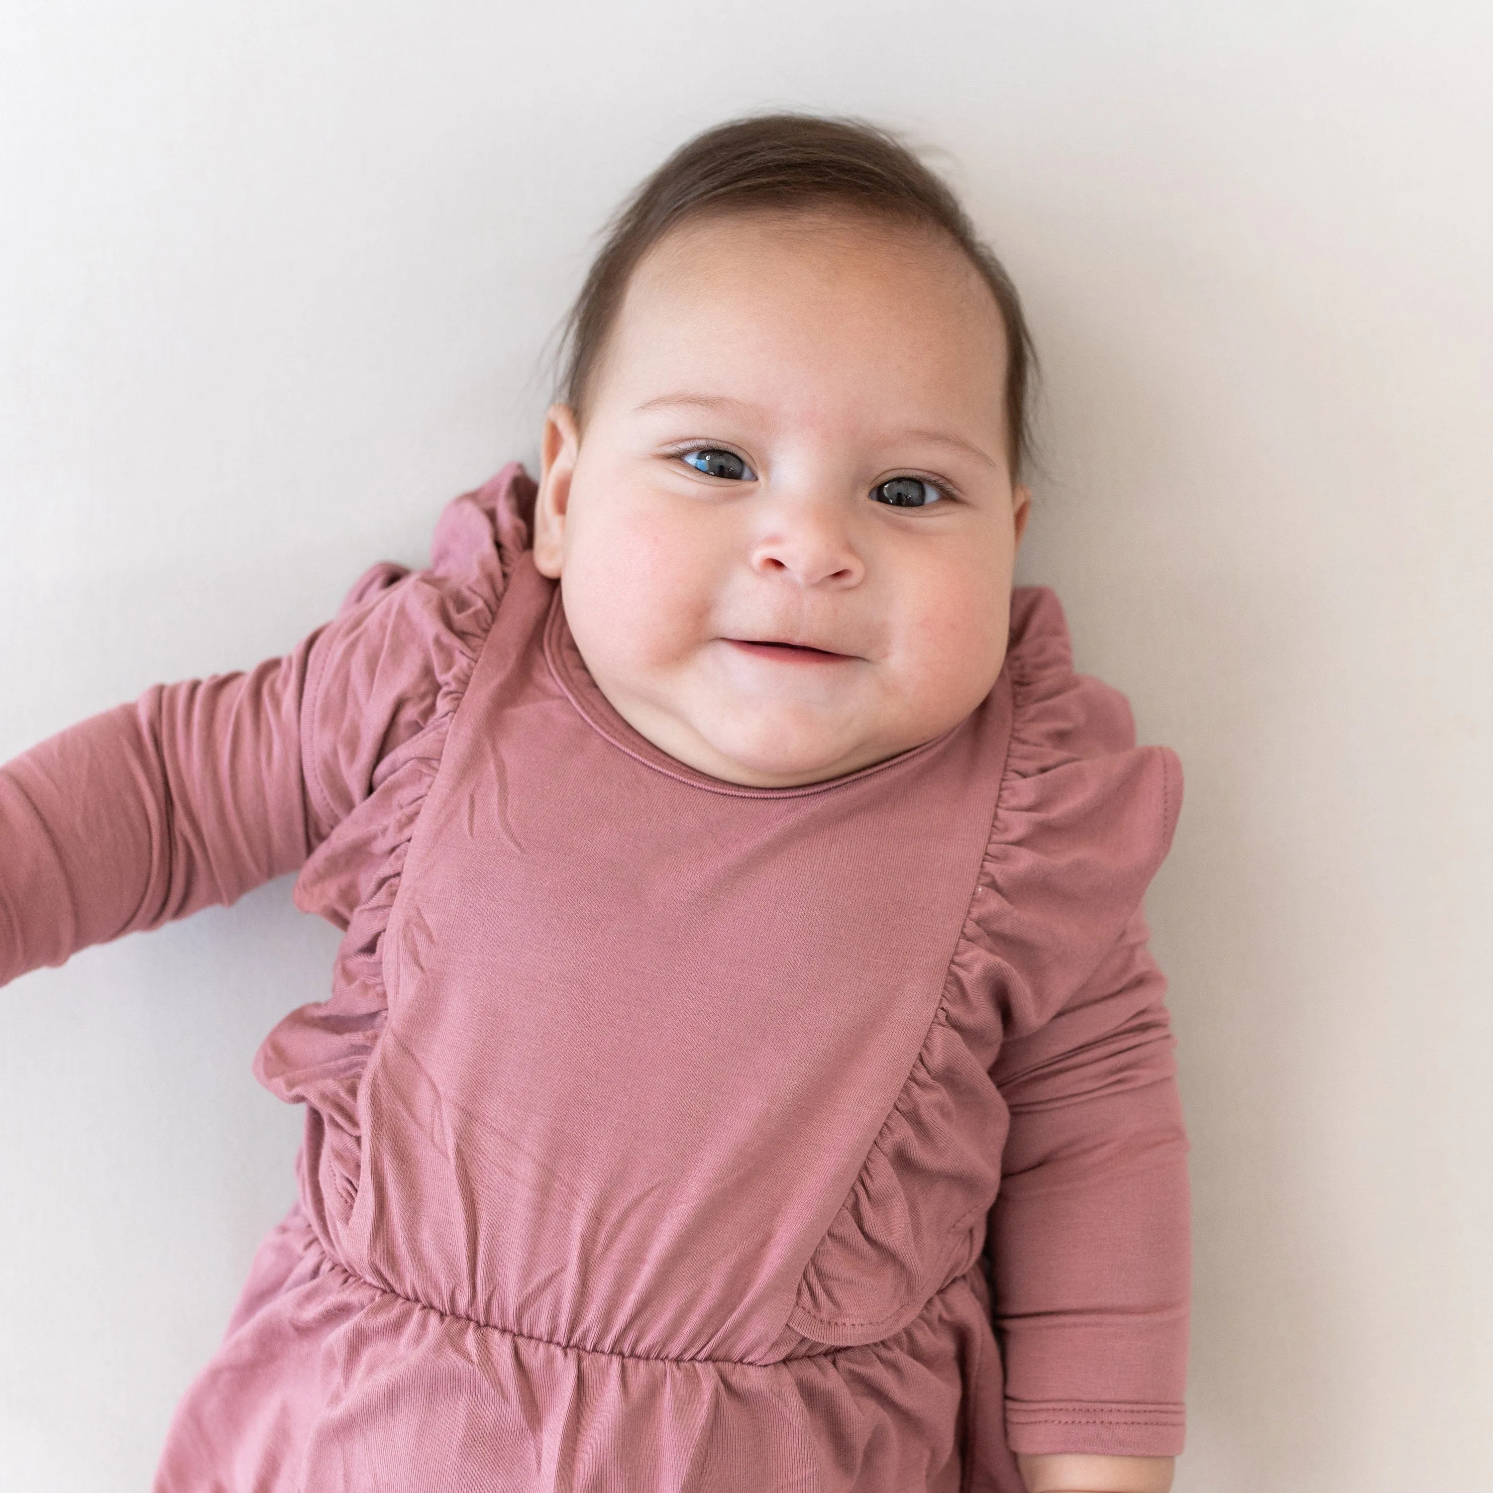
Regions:
<svg viewBox="0 0 1493 1493"><path fill-rule="evenodd" d="M0 769L0 982L299 870L299 1200L157 1489L1162 1493L1181 776L1012 590L1030 349L869 127L639 190L537 484Z"/></svg>

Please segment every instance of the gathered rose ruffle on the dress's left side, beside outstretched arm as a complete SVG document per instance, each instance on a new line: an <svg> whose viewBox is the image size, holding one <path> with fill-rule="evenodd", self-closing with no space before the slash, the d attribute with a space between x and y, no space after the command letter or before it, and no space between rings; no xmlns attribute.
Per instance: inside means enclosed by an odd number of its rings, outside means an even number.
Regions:
<svg viewBox="0 0 1493 1493"><path fill-rule="evenodd" d="M534 491L511 463L448 503L430 567L370 567L314 645L302 755L308 821L324 838L294 900L343 938L331 997L285 1017L254 1070L279 1099L306 1103L302 1202L334 1256L358 1184L358 1087L388 1011L384 933L451 720L529 548Z"/></svg>

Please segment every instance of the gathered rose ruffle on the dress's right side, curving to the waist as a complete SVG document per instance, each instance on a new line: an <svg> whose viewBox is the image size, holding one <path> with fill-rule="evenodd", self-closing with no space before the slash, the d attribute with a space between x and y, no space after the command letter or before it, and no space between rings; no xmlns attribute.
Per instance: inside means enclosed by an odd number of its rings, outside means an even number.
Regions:
<svg viewBox="0 0 1493 1493"><path fill-rule="evenodd" d="M1124 696L1076 675L1047 587L1018 587L997 690L1011 733L988 845L942 1000L788 1326L829 1344L896 1332L978 1260L1000 1185L1005 1039L1081 991L1141 906L1181 806L1181 764L1136 746Z"/></svg>

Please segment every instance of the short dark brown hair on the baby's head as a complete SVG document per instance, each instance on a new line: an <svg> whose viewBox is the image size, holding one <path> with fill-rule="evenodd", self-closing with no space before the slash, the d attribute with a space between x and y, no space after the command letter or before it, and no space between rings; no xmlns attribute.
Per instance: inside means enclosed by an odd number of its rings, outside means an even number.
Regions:
<svg viewBox="0 0 1493 1493"><path fill-rule="evenodd" d="M618 209L566 318L561 397L576 417L633 270L673 227L702 213L842 203L947 234L996 297L1006 328L1005 417L1012 476L1030 454L1027 393L1036 352L1011 276L959 199L894 134L860 119L766 113L679 146Z"/></svg>

